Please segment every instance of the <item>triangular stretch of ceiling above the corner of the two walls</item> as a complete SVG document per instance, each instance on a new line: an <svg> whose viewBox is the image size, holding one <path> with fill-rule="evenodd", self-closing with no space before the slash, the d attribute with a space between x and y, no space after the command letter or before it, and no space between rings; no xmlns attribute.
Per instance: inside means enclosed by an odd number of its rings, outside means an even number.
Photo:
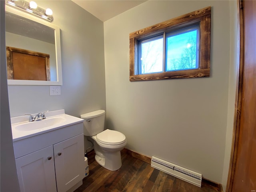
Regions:
<svg viewBox="0 0 256 192"><path fill-rule="evenodd" d="M146 0L72 0L101 21L106 21Z"/></svg>

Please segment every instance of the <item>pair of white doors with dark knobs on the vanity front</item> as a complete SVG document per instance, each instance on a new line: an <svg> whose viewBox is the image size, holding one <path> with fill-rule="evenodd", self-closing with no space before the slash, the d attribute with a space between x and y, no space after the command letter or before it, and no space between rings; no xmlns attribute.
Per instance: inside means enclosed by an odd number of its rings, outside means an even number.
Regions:
<svg viewBox="0 0 256 192"><path fill-rule="evenodd" d="M20 190L54 192L57 191L56 184L58 192L72 188L81 180L81 174L84 174L84 158L81 158L81 154L84 154L83 146L84 134L80 134L17 158Z"/></svg>

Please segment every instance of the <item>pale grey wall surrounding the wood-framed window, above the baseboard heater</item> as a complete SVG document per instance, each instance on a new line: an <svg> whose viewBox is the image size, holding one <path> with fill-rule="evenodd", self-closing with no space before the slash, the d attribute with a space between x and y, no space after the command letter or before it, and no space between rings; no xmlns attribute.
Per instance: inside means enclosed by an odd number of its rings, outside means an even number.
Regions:
<svg viewBox="0 0 256 192"><path fill-rule="evenodd" d="M129 33L212 6L209 78L129 81ZM107 126L127 148L222 183L230 64L228 1L147 1L104 22Z"/></svg>

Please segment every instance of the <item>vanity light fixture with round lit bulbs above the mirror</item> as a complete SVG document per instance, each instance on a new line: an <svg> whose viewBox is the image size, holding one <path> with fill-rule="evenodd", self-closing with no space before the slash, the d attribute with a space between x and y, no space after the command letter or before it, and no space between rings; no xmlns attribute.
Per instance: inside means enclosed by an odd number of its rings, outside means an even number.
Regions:
<svg viewBox="0 0 256 192"><path fill-rule="evenodd" d="M14 6L15 8L34 14L50 22L53 20L52 10L50 8L44 10L43 8L38 7L34 1L26 2L25 0L6 0L5 2L7 5Z"/></svg>

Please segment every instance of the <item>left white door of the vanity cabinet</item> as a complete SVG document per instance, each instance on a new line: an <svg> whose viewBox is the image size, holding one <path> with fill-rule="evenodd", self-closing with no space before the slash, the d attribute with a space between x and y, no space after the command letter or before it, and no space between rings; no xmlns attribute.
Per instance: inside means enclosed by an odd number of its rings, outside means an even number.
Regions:
<svg viewBox="0 0 256 192"><path fill-rule="evenodd" d="M53 147L49 146L17 158L21 192L56 192Z"/></svg>

